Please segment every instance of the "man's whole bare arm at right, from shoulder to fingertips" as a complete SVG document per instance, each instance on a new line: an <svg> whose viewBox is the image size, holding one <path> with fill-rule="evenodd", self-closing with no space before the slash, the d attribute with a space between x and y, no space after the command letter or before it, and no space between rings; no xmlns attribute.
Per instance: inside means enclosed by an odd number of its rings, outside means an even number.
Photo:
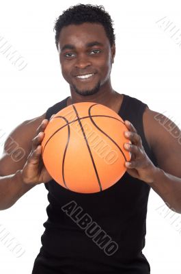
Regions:
<svg viewBox="0 0 181 274"><path fill-rule="evenodd" d="M129 132L125 136L132 142L132 145L124 145L132 153L130 162L125 163L127 172L149 184L171 210L181 213L180 129L166 116L145 110L143 126L158 163L158 166L154 166L143 149L134 125L126 122L126 126Z"/></svg>

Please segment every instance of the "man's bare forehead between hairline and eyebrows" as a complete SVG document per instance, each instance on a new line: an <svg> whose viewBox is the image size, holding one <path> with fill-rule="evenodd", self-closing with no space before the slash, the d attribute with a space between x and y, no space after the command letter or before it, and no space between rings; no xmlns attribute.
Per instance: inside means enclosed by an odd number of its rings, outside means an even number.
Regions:
<svg viewBox="0 0 181 274"><path fill-rule="evenodd" d="M89 42L101 42L109 45L109 39L105 28L98 23L83 23L81 25L68 25L61 29L59 35L59 47L66 44L81 47Z"/></svg>

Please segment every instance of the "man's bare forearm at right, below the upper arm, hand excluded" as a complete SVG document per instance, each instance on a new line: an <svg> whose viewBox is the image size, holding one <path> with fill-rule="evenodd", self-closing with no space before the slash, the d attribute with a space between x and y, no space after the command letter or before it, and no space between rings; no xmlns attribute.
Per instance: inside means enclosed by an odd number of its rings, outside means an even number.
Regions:
<svg viewBox="0 0 181 274"><path fill-rule="evenodd" d="M169 208L181 214L181 178L156 168L152 189L169 204Z"/></svg>

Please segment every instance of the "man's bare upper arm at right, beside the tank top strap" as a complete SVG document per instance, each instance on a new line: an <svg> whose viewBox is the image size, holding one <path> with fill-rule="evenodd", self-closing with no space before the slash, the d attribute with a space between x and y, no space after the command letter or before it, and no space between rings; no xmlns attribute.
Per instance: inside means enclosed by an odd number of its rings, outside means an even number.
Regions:
<svg viewBox="0 0 181 274"><path fill-rule="evenodd" d="M176 177L181 177L181 132L167 116L150 111L147 134L158 167ZM148 128L148 127L147 127Z"/></svg>

